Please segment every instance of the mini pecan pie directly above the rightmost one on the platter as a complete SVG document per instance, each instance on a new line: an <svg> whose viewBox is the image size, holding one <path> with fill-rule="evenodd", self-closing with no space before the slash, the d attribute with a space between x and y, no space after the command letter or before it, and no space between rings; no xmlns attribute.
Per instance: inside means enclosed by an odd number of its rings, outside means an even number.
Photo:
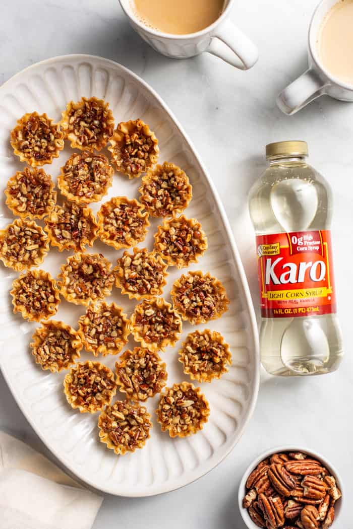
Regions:
<svg viewBox="0 0 353 529"><path fill-rule="evenodd" d="M174 282L170 295L176 311L193 325L217 320L228 311L225 288L209 272L186 273Z"/></svg>

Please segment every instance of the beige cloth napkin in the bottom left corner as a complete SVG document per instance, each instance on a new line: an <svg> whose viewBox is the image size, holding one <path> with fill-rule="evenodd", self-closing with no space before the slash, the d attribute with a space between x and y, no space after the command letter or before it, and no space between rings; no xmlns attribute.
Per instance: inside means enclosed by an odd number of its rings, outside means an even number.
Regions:
<svg viewBox="0 0 353 529"><path fill-rule="evenodd" d="M103 498L0 432L1 529L91 529Z"/></svg>

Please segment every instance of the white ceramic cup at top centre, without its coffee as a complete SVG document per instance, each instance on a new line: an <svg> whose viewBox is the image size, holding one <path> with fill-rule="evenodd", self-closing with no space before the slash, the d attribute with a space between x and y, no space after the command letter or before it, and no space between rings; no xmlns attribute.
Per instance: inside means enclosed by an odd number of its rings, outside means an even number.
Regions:
<svg viewBox="0 0 353 529"><path fill-rule="evenodd" d="M187 35L162 33L148 28L135 16L130 0L119 1L133 29L153 49L167 57L186 59L206 51L241 70L248 70L258 60L255 44L228 20L235 0L226 0L221 16L213 24L197 33Z"/></svg>

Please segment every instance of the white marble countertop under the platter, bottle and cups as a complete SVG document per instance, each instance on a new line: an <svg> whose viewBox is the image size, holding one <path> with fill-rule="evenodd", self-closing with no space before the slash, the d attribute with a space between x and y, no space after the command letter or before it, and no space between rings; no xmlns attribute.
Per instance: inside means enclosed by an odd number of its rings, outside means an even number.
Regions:
<svg viewBox="0 0 353 529"><path fill-rule="evenodd" d="M293 117L275 106L278 92L306 68L306 34L315 4L316 0L238 0L232 19L260 50L256 67L242 72L207 53L188 60L159 56L130 29L117 0L2 1L0 84L42 59L92 53L132 69L165 99L218 188L255 303L257 272L247 194L264 169L265 144L306 140L310 163L333 189L336 282L346 346L340 370L311 379L280 379L263 371L254 416L225 461L194 484L166 495L146 499L106 496L94 529L117 525L129 529L243 529L237 507L240 477L260 452L280 444L306 445L323 453L341 472L346 498L353 497L349 339L353 104L320 98ZM0 427L47 453L1 376ZM349 500L341 528L351 525L348 505Z"/></svg>

